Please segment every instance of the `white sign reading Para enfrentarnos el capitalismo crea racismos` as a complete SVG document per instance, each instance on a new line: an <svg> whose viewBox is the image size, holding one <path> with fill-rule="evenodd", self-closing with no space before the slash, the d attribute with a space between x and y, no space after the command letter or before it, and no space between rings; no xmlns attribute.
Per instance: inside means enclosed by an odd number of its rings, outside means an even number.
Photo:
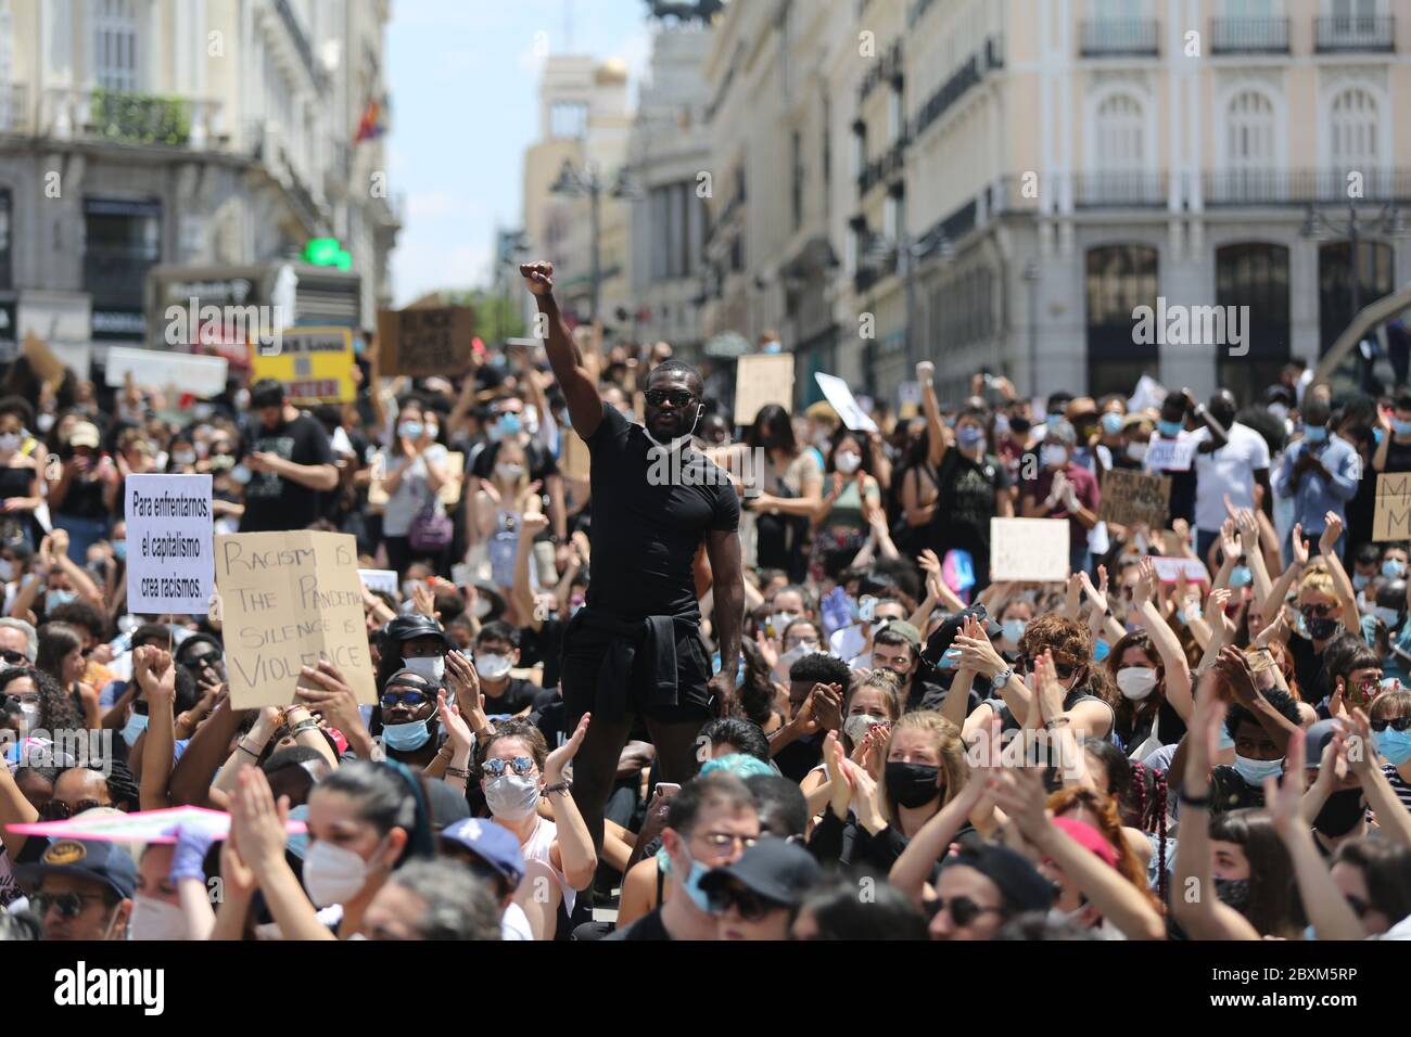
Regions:
<svg viewBox="0 0 1411 1037"><path fill-rule="evenodd" d="M128 475L127 611L205 615L214 591L210 475Z"/></svg>

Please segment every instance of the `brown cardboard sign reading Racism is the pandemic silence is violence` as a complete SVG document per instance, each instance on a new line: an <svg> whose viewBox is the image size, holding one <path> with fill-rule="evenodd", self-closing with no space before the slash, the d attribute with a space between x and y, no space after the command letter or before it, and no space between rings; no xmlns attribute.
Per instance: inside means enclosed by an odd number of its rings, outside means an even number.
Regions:
<svg viewBox="0 0 1411 1037"><path fill-rule="evenodd" d="M234 708L298 701L301 667L320 659L339 667L358 703L377 701L351 535L217 536L216 587Z"/></svg>

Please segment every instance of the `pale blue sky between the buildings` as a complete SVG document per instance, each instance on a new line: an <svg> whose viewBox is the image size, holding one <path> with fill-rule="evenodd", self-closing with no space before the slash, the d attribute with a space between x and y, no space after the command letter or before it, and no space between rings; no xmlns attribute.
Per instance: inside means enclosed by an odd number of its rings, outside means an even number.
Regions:
<svg viewBox="0 0 1411 1037"><path fill-rule="evenodd" d="M523 152L539 133L536 34L550 54L622 58L635 97L645 11L642 0L394 0L388 171L406 198L396 305L487 282L495 227L519 224Z"/></svg>

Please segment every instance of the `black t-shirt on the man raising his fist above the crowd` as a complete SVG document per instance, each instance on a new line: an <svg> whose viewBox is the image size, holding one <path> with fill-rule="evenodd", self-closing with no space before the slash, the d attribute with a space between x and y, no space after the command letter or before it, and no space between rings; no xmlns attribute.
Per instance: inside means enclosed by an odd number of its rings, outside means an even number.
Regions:
<svg viewBox="0 0 1411 1037"><path fill-rule="evenodd" d="M682 447L679 478L648 478L646 430L614 406L588 439L593 457L593 560L587 605L624 619L697 619L691 562L711 530L739 528L729 480L693 447ZM674 459L667 459L674 460ZM659 485L652 485L652 481Z"/></svg>

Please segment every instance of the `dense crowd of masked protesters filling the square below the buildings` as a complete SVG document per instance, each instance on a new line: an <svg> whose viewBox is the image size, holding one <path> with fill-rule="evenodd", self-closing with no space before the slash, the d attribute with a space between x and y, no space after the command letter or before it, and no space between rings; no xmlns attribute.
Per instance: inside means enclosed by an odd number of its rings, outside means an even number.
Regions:
<svg viewBox="0 0 1411 1037"><path fill-rule="evenodd" d="M737 422L522 274L542 344L368 350L344 405L11 364L0 938L1411 937L1404 388L943 402L921 363L875 432ZM1103 521L1112 470L1164 521ZM377 703L322 662L233 708L219 615L128 614L133 473L394 570ZM992 580L996 518L1067 522L1070 577ZM229 837L28 830L181 806Z"/></svg>

